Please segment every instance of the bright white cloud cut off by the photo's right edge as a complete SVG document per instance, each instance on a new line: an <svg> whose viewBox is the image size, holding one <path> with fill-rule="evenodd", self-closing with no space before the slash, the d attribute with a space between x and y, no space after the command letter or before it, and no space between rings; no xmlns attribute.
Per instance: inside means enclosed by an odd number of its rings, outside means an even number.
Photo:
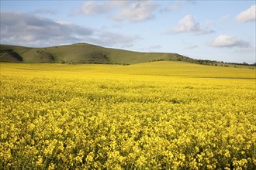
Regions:
<svg viewBox="0 0 256 170"><path fill-rule="evenodd" d="M238 22L250 22L256 20L256 5L251 5L247 10L237 15Z"/></svg>

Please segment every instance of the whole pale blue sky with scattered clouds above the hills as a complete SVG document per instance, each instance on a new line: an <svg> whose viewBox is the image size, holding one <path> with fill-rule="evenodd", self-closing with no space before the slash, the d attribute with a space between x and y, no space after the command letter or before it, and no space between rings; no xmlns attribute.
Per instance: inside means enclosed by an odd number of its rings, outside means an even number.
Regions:
<svg viewBox="0 0 256 170"><path fill-rule="evenodd" d="M1 44L78 42L255 63L256 2L1 0Z"/></svg>

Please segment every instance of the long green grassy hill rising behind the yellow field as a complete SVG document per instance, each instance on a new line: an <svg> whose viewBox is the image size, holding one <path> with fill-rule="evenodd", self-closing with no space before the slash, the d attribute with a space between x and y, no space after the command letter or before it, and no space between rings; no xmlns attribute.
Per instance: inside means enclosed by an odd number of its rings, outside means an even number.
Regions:
<svg viewBox="0 0 256 170"><path fill-rule="evenodd" d="M1 45L0 61L13 63L114 63L134 64L157 60L192 61L175 53L138 53L86 43L47 48Z"/></svg>

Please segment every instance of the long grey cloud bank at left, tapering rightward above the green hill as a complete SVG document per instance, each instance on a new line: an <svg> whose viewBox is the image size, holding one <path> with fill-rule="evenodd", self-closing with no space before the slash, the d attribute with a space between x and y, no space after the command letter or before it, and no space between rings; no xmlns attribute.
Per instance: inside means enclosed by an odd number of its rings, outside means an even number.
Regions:
<svg viewBox="0 0 256 170"><path fill-rule="evenodd" d="M97 43L102 46L133 46L137 36L126 36L99 29L78 26L22 12L1 15L0 41L22 46L56 46L76 42ZM107 43L107 44L106 44Z"/></svg>

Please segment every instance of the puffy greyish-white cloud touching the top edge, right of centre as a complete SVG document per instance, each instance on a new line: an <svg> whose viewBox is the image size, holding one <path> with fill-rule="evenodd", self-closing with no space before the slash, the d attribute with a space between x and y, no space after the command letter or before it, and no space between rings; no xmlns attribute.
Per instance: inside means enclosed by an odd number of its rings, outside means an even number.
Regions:
<svg viewBox="0 0 256 170"><path fill-rule="evenodd" d="M133 2L123 6L121 12L113 19L116 21L142 22L154 18L153 12L157 7L158 4L151 1Z"/></svg>

